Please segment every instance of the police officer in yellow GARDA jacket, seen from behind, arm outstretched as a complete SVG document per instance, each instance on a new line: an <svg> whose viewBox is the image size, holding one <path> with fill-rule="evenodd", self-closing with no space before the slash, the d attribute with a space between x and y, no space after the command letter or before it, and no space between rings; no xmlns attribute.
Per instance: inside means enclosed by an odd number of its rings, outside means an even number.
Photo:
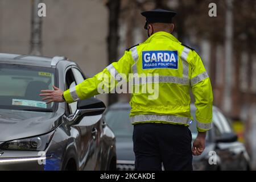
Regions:
<svg viewBox="0 0 256 182"><path fill-rule="evenodd" d="M171 33L172 18L176 13L152 10L142 13L146 17L144 28L148 39L131 47L118 62L110 64L101 73L88 78L74 88L42 90L40 96L50 102L74 102L92 97L98 92L99 76L104 74L120 81L116 75L146 74L139 85L152 83L148 74L158 74L159 96L149 99L151 93L131 95L131 123L134 125L133 141L135 169L192 170L192 154L200 155L205 148L205 136L212 127L213 94L210 79L196 51L185 46ZM113 72L114 70L114 72ZM142 79L143 80L143 79ZM110 89L113 89L109 85ZM109 89L109 90L110 90ZM190 94L195 96L198 135L191 147L192 121Z"/></svg>

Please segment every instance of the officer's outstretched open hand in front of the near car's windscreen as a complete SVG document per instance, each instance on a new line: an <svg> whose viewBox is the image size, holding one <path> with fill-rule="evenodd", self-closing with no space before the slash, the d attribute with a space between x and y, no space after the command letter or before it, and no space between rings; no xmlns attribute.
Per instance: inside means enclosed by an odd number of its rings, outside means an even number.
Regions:
<svg viewBox="0 0 256 182"><path fill-rule="evenodd" d="M62 98L63 91L54 85L52 85L52 87L54 90L41 90L43 93L39 94L39 96L46 96L42 98L42 100L48 100L46 104L51 102L64 102L64 99Z"/></svg>

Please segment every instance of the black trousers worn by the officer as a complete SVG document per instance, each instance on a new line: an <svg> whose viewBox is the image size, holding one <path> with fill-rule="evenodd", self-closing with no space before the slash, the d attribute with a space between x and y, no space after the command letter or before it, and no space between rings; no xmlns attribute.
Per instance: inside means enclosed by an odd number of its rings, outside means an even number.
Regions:
<svg viewBox="0 0 256 182"><path fill-rule="evenodd" d="M135 170L193 170L191 131L162 123L134 125Z"/></svg>

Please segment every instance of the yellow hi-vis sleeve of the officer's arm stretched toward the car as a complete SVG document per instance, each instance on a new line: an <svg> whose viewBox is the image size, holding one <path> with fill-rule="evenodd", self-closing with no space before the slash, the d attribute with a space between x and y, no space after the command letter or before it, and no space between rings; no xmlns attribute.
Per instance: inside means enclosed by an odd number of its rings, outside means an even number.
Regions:
<svg viewBox="0 0 256 182"><path fill-rule="evenodd" d="M131 72L133 63L131 52L125 51L125 54L119 59L106 67L102 72L88 78L73 88L64 91L65 101L68 103L77 100L85 100L101 93L110 93L119 81L127 81L127 76ZM121 73L121 74L120 74Z"/></svg>

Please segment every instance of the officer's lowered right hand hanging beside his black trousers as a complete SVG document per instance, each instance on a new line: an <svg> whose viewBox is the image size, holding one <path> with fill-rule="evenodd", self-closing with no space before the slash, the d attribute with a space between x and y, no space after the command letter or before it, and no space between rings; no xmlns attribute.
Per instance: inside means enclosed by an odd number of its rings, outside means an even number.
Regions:
<svg viewBox="0 0 256 182"><path fill-rule="evenodd" d="M193 155L201 155L205 148L206 132L199 132L195 141L193 142Z"/></svg>

